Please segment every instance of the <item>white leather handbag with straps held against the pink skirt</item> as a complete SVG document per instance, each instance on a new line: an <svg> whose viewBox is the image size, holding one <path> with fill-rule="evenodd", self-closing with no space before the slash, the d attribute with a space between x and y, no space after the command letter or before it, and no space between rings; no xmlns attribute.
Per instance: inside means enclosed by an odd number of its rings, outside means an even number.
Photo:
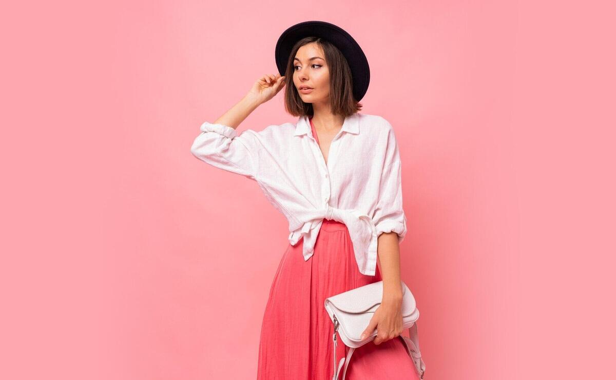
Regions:
<svg viewBox="0 0 616 380"><path fill-rule="evenodd" d="M372 319L374 312L381 304L382 298L383 281L378 281L325 299L325 310L330 315L331 322L334 323L334 372L332 380L338 380L342 364L344 364L344 371L342 372L342 380L344 380L344 378L346 378L349 360L354 350L376 338L376 329L370 336L363 340L360 339L360 336L368 327L370 319ZM418 318L419 311L415 304L415 297L413 297L411 291L408 290L407 284L402 282L402 328L408 328L410 338L402 334L400 334L399 338L402 339L408 355L413 360L419 378L423 379L426 365L424 365L421 359L421 352L419 351L416 322ZM349 347L346 358L340 359L337 370L336 346L338 346L338 339L336 339L336 331L340 334L342 342Z"/></svg>

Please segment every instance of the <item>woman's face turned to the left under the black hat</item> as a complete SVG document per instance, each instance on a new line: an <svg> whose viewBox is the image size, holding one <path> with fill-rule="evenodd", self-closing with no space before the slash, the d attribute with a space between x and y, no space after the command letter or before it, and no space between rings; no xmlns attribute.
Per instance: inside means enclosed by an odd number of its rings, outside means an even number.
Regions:
<svg viewBox="0 0 616 380"><path fill-rule="evenodd" d="M293 65L293 84L302 101L325 103L330 97L330 70L320 47L314 42L300 47ZM304 91L303 86L312 90Z"/></svg>

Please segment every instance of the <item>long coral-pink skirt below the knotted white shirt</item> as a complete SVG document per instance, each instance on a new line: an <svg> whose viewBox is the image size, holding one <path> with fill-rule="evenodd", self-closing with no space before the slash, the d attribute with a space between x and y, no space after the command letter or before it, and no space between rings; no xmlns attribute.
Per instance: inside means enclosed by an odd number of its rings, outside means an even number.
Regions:
<svg viewBox="0 0 616 380"><path fill-rule="evenodd" d="M302 256L303 241L289 245L274 276L261 327L257 380L331 380L334 328L325 299L382 280L378 267L375 276L359 272L344 223L323 220L308 261ZM338 335L336 363L347 352ZM419 377L404 344L394 338L356 349L346 379Z"/></svg>

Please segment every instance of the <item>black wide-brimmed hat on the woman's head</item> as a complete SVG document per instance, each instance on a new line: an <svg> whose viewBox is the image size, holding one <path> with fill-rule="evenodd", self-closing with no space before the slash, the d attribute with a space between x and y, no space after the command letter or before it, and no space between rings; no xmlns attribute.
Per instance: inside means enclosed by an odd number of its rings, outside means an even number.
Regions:
<svg viewBox="0 0 616 380"><path fill-rule="evenodd" d="M339 26L324 21L306 21L293 25L285 30L276 43L276 66L280 75L286 74L286 65L289 61L291 49L296 42L304 37L320 37L331 42L344 55L353 78L353 97L360 101L368 90L370 83L370 67L368 60L359 44L351 34Z"/></svg>

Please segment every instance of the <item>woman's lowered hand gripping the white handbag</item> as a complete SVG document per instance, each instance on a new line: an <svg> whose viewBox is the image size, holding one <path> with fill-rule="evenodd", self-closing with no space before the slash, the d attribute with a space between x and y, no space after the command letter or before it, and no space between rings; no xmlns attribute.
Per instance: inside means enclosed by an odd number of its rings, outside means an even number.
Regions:
<svg viewBox="0 0 616 380"><path fill-rule="evenodd" d="M381 344L402 334L402 298L384 298L376 309L368 327L362 333L362 339L369 336L376 328L373 342Z"/></svg>

